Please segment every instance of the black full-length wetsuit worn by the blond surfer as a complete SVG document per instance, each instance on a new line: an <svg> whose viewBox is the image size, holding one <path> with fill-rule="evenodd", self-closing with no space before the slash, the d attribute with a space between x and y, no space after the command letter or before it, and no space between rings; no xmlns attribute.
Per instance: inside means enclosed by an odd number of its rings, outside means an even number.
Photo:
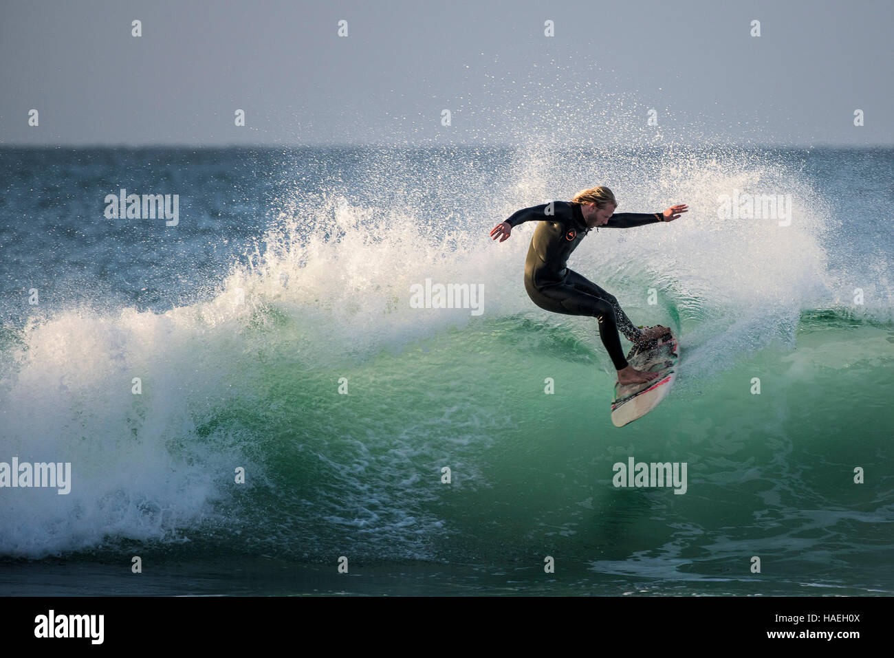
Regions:
<svg viewBox="0 0 894 658"><path fill-rule="evenodd" d="M569 270L568 257L578 247L590 229L584 222L580 204L553 201L552 215L547 215L551 204L522 208L506 220L510 226L523 222L540 221L531 238L525 261L525 290L540 308L571 316L595 316L599 321L599 335L611 362L618 370L628 366L620 347L618 330L633 342L642 333L630 322L618 306L618 299L598 285ZM620 213L611 215L611 228L655 224L662 221L661 213L648 215Z"/></svg>

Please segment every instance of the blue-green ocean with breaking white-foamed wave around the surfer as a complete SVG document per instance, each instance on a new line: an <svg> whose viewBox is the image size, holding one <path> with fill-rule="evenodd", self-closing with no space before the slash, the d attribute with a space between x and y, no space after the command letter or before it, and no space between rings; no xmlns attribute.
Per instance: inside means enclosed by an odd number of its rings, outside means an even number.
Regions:
<svg viewBox="0 0 894 658"><path fill-rule="evenodd" d="M71 465L68 493L0 486L0 595L894 595L894 149L7 147L0 172L0 462ZM527 298L534 224L488 235L597 184L690 208L569 261L679 335L623 428L595 319ZM121 190L176 219L114 216ZM616 486L630 459L686 464L685 493Z"/></svg>

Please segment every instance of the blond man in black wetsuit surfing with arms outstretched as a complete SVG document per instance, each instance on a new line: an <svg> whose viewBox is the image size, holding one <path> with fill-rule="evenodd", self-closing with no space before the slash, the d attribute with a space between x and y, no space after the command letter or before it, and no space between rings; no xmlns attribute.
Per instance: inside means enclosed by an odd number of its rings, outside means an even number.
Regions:
<svg viewBox="0 0 894 658"><path fill-rule="evenodd" d="M671 206L662 213L621 213L613 215L618 202L606 187L581 190L570 201L552 201L522 208L505 222L493 227L493 240L509 238L512 228L524 222L540 221L531 238L525 261L525 290L540 308L571 316L595 316L599 336L611 362L618 370L620 384L644 384L657 373L630 366L620 347L618 331L628 341L642 344L667 333L668 327L655 325L637 329L618 305L618 299L586 278L569 270L568 258L580 240L599 226L628 229L656 222L672 222L687 212L688 206Z"/></svg>

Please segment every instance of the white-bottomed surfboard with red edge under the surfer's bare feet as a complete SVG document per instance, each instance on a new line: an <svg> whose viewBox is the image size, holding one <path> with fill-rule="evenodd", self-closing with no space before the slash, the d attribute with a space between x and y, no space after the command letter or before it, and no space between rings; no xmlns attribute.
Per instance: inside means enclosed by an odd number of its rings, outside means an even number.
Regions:
<svg viewBox="0 0 894 658"><path fill-rule="evenodd" d="M659 375L645 384L621 385L615 382L611 422L616 427L623 427L637 418L643 418L671 392L671 386L677 378L679 342L673 332L669 331L642 347L634 345L627 360L637 370L657 372Z"/></svg>

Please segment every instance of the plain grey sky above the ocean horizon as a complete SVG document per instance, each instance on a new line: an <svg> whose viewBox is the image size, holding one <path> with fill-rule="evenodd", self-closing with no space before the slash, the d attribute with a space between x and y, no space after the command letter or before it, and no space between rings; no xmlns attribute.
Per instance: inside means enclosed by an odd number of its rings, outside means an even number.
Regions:
<svg viewBox="0 0 894 658"><path fill-rule="evenodd" d="M0 143L892 145L892 19L890 0L2 0Z"/></svg>

